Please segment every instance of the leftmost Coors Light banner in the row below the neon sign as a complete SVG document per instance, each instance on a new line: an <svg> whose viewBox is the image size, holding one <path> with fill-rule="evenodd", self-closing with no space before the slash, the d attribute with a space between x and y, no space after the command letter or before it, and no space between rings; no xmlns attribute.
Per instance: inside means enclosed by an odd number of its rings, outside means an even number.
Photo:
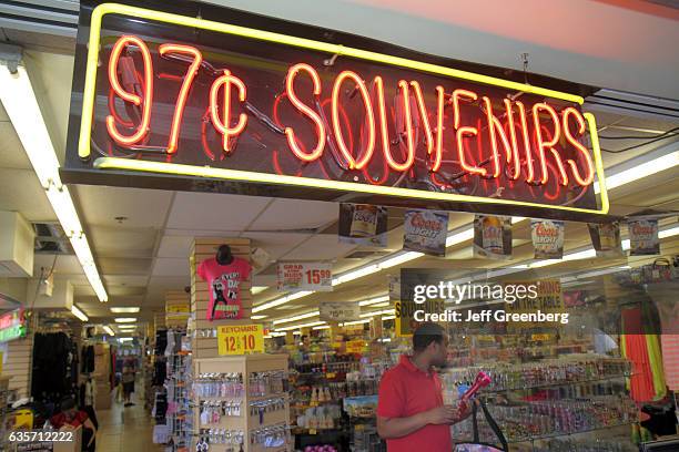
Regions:
<svg viewBox="0 0 679 452"><path fill-rule="evenodd" d="M386 207L340 204L340 242L343 244L385 248L386 228Z"/></svg>

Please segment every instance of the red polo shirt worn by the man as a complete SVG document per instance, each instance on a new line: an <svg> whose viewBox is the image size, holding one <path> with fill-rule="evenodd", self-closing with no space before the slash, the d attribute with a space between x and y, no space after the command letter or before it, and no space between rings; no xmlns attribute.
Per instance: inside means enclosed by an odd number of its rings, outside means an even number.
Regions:
<svg viewBox="0 0 679 452"><path fill-rule="evenodd" d="M442 407L440 380L436 372L423 372L402 355L401 362L387 370L379 382L377 415L409 418ZM406 436L387 440L388 452L450 452L450 425L426 425Z"/></svg>

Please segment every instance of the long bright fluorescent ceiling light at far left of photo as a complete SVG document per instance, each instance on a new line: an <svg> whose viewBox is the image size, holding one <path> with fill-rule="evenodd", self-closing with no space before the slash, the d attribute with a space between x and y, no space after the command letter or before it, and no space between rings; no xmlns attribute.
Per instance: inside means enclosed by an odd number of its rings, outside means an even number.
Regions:
<svg viewBox="0 0 679 452"><path fill-rule="evenodd" d="M94 289L97 298L107 301L109 297L94 265L88 239L82 232L73 199L69 188L59 177L57 153L26 68L18 66L12 74L7 65L0 64L0 101L19 135L40 185L45 189L61 227L71 240L88 281Z"/></svg>

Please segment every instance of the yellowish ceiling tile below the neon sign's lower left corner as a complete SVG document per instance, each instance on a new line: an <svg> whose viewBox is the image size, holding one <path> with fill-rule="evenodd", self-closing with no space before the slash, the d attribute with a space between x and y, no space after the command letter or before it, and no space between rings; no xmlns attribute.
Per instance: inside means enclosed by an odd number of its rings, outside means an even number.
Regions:
<svg viewBox="0 0 679 452"><path fill-rule="evenodd" d="M163 227L173 192L99 185L77 185L73 191L83 220L89 226L121 226L115 217L126 217L130 228Z"/></svg>

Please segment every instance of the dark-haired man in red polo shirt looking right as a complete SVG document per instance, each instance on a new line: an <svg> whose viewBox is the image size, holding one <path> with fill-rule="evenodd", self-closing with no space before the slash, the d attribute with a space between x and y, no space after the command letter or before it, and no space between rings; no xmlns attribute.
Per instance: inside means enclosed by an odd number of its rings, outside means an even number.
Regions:
<svg viewBox="0 0 679 452"><path fill-rule="evenodd" d="M468 405L444 405L434 367L446 364L448 338L439 325L413 335L413 356L385 372L379 383L377 432L388 452L450 452L450 424L470 414Z"/></svg>

